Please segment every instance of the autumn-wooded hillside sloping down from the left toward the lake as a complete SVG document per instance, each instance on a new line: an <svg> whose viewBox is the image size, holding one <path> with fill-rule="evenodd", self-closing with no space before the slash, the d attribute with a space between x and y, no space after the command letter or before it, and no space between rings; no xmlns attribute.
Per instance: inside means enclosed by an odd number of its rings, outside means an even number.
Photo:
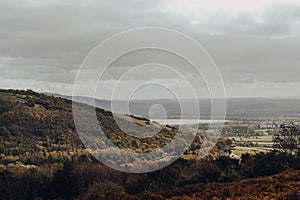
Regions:
<svg viewBox="0 0 300 200"><path fill-rule="evenodd" d="M176 134L175 128L151 123L144 118L113 116L111 112L98 108L96 113L106 136L120 148L147 152L162 147ZM139 139L124 133L119 124L129 127L130 132L160 131L153 137ZM5 156L2 158L5 162L9 162L9 157L35 163L35 160L47 159L57 152L70 155L70 152L78 153L84 149L75 130L72 102L30 90L0 91L0 140L0 154ZM33 156L26 156L28 154Z"/></svg>

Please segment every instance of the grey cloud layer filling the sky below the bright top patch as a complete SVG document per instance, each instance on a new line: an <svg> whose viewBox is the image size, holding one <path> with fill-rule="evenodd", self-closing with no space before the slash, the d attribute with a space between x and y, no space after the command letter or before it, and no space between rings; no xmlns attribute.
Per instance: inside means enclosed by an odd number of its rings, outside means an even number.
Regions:
<svg viewBox="0 0 300 200"><path fill-rule="evenodd" d="M173 28L194 37L211 54L229 85L300 82L299 5L283 3L261 14L216 13L204 22L191 24L189 16L166 12L163 3L1 1L0 87L8 83L11 87L22 83L23 87L28 83L36 90L53 87L56 92L63 88L61 92L67 93L76 70L94 46L112 34L145 26ZM105 80L120 77L128 66L153 60L185 67L165 54L140 52L114 63L120 68L112 68ZM167 74L165 77L169 78Z"/></svg>

